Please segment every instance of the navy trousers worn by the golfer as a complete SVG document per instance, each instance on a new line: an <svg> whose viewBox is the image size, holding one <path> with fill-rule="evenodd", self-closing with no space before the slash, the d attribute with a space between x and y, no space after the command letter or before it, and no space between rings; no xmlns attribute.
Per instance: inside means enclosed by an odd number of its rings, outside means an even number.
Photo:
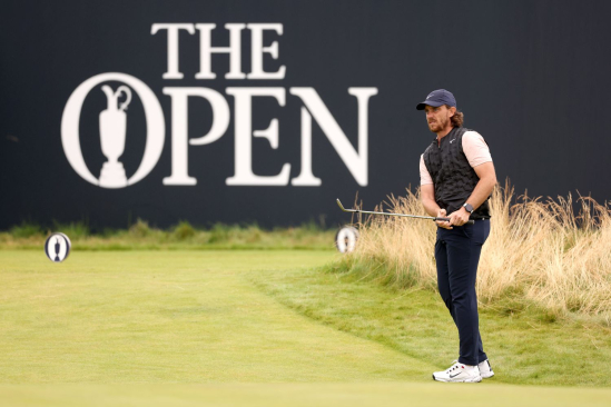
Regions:
<svg viewBox="0 0 611 407"><path fill-rule="evenodd" d="M475 225L437 228L435 260L440 295L459 328L459 361L477 365L487 359L480 336L475 278L482 246L490 235L490 219Z"/></svg>

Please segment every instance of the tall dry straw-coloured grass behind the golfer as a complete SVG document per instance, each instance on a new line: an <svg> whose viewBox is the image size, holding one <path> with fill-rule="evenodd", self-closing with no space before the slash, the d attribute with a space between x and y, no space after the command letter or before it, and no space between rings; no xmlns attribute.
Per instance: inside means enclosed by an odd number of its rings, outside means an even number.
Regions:
<svg viewBox="0 0 611 407"><path fill-rule="evenodd" d="M417 193L390 197L377 210L426 215ZM554 315L611 315L609 206L589 197L573 202L570 195L515 199L509 183L494 190L490 204L491 235L477 271L480 301L511 297ZM383 216L356 220L357 248L338 268L402 287L436 286L434 222Z"/></svg>

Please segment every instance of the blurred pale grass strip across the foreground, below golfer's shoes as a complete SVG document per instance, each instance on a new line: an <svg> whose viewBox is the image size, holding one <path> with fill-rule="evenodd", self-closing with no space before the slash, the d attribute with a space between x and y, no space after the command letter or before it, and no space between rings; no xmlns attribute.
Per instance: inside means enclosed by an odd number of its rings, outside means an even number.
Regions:
<svg viewBox="0 0 611 407"><path fill-rule="evenodd" d="M437 383L0 386L10 406L601 406L611 390Z"/></svg>

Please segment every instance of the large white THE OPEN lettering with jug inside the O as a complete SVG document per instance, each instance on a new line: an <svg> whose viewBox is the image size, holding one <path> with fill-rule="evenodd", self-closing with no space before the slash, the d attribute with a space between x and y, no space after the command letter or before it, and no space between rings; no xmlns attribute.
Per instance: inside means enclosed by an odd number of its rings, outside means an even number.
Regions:
<svg viewBox="0 0 611 407"><path fill-rule="evenodd" d="M162 79L168 81L180 80L185 77L179 69L179 38L183 34L199 32L199 72L195 79L214 80L216 73L211 70L213 53L226 53L229 57L229 71L225 79L231 80L283 80L286 67L283 64L275 71L264 70L264 57L277 60L279 46L272 41L264 46L265 33L282 36L280 23L227 23L229 31L229 47L213 47L211 32L214 23L154 23L151 34L165 31L167 34L167 72ZM242 31L250 33L250 72L243 72L242 63ZM110 82L115 83L111 85ZM116 85L116 83L120 85ZM279 139L279 120L273 118L266 129L253 129L253 103L258 98L272 98L279 107L287 103L288 93L294 96L293 102L300 102L300 172L290 179L290 163L286 162L278 168L275 176L256 175L253 170L253 137L269 141L272 149L277 149ZM106 109L99 112L99 137L101 152L106 162L99 169L99 178L85 162L79 135L81 110L85 99L90 92L104 92ZM197 178L188 173L188 147L205 146L220 139L229 126L231 112L224 95L205 87L164 87L161 92L170 98L171 102L171 173L162 179L166 186L195 186ZM233 176L227 177L227 186L321 186L323 180L313 172L312 120L322 129L331 146L336 150L341 160L349 170L356 182L367 185L368 160L368 101L377 95L377 88L348 88L348 95L357 100L358 141L355 148L342 128L327 109L314 88L308 87L228 87L225 89L234 98L234 131L235 155ZM95 93L93 93L95 95ZM121 156L129 137L129 106L132 96L137 95L142 103L146 116L146 143L142 160L136 172L129 178L126 176ZM211 108L211 127L208 133L189 138L188 136L188 103L189 99L205 99ZM134 98L135 100L136 98ZM297 119L297 118L295 118ZM91 126L91 123L87 123ZM164 111L155 92L141 80L127 73L108 72L87 79L72 92L61 119L61 142L68 162L85 180L101 188L125 188L142 180L155 168L164 150L166 121Z"/></svg>

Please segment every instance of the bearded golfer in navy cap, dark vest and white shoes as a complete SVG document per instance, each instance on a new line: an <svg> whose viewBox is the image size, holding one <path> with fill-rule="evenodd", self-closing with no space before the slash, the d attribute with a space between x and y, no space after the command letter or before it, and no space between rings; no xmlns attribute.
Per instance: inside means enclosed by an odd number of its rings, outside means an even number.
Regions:
<svg viewBox="0 0 611 407"><path fill-rule="evenodd" d="M486 142L463 127L464 115L451 92L435 90L416 109L426 112L436 135L421 156L421 195L428 215L450 218L437 221L437 287L460 337L459 360L433 379L476 383L494 375L480 336L475 277L490 235L487 200L496 175ZM465 225L470 219L474 224Z"/></svg>

